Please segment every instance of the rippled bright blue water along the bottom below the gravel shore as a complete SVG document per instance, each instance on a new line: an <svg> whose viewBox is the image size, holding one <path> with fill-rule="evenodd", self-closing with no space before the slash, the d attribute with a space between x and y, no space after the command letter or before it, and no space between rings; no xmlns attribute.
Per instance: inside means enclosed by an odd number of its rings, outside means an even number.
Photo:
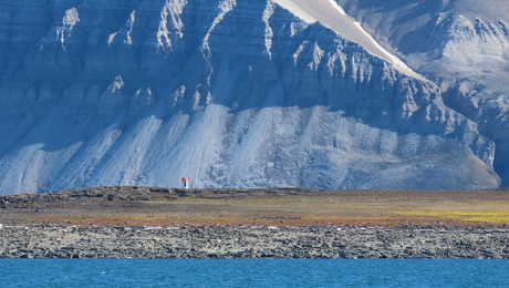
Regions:
<svg viewBox="0 0 509 288"><path fill-rule="evenodd" d="M509 261L0 259L0 287L509 287Z"/></svg>

